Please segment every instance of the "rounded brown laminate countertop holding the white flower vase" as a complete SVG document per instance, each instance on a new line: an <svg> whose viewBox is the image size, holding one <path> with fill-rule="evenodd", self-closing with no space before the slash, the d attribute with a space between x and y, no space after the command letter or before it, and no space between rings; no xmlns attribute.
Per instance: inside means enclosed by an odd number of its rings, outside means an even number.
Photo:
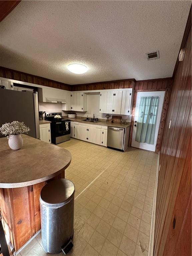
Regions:
<svg viewBox="0 0 192 256"><path fill-rule="evenodd" d="M62 173L71 163L71 153L56 145L22 135L23 147L12 150L0 138L0 188L34 185Z"/></svg>

